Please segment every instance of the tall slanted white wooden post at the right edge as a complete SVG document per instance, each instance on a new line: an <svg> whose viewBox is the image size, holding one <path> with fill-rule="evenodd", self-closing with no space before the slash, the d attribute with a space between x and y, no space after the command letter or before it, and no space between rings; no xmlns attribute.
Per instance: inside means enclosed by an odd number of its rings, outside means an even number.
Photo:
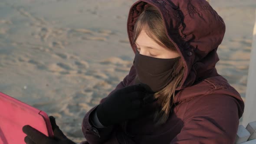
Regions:
<svg viewBox="0 0 256 144"><path fill-rule="evenodd" d="M255 13L256 16L256 13ZM256 18L255 18L256 21ZM247 78L243 126L256 121L256 23L253 30L253 43L250 54L249 73Z"/></svg>

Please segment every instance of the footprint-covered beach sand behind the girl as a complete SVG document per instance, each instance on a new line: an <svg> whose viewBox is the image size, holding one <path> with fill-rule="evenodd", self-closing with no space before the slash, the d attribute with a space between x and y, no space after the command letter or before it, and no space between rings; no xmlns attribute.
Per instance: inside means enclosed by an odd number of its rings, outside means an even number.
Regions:
<svg viewBox="0 0 256 144"><path fill-rule="evenodd" d="M82 118L128 74L136 0L1 0L0 92L56 117L75 142ZM212 0L226 34L218 72L245 97L256 3Z"/></svg>

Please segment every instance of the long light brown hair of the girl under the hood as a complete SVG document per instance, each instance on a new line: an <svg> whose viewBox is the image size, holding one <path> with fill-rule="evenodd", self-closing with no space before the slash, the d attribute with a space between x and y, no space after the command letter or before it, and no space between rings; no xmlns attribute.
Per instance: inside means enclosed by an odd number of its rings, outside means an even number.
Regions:
<svg viewBox="0 0 256 144"><path fill-rule="evenodd" d="M135 43L142 29L160 46L177 52L165 32L163 18L156 7L148 4L138 17L134 26L133 43ZM154 98L158 98L157 103L160 106L153 114L155 126L164 124L172 112L172 107L175 105L173 101L175 89L180 85L184 75L184 67L182 65L181 60L175 64L177 69L173 72L173 81L154 94ZM135 79L137 79L137 76Z"/></svg>

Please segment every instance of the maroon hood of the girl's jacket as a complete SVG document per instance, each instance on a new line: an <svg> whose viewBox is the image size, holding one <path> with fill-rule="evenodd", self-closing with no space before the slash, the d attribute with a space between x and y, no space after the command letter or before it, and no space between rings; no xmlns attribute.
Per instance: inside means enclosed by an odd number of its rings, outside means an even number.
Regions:
<svg viewBox="0 0 256 144"><path fill-rule="evenodd" d="M138 0L128 13L127 32L131 48L136 20L148 4L158 8L164 20L165 31L184 61L184 77L174 102L189 100L198 95L226 94L240 104L240 117L244 103L240 94L217 73L217 49L223 40L226 26L223 19L206 0Z"/></svg>

